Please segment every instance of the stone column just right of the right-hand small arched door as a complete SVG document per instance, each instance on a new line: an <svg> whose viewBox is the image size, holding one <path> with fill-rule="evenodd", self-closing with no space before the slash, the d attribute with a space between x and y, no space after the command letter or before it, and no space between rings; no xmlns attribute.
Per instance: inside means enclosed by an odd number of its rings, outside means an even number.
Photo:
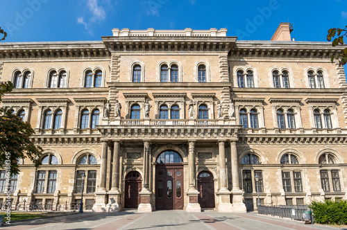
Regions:
<svg viewBox="0 0 347 230"><path fill-rule="evenodd" d="M220 212L232 212L232 204L230 203L230 191L226 187L226 140L219 140L219 175L221 188L217 193L218 205L217 209Z"/></svg>

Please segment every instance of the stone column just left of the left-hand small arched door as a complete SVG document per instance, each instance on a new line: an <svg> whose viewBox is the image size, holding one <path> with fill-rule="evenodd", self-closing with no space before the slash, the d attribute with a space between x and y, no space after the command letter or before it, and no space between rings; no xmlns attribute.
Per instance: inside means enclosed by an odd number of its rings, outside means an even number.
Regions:
<svg viewBox="0 0 347 230"><path fill-rule="evenodd" d="M118 188L118 179L119 179L119 146L121 142L119 140L113 141L113 159L112 159L112 187L108 192L108 211L119 211L120 203L120 193Z"/></svg>

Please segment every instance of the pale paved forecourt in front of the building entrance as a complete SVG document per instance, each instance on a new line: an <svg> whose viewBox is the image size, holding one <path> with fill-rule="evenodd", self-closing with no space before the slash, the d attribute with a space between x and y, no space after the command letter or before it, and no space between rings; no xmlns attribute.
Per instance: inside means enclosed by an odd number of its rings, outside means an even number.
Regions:
<svg viewBox="0 0 347 230"><path fill-rule="evenodd" d="M323 227L318 224L305 225L301 221L273 218L257 213L187 213L185 211L154 211L153 213L137 213L135 210L119 213L83 213L56 218L12 222L3 226L6 230L19 229L230 229L230 230L314 230L337 229Z"/></svg>

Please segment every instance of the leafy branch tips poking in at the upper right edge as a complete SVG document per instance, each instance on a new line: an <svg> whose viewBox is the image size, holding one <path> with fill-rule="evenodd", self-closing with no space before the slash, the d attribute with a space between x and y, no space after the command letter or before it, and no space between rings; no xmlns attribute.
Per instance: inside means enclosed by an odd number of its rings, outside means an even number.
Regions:
<svg viewBox="0 0 347 230"><path fill-rule="evenodd" d="M332 41L332 46L344 44L344 37L347 37L347 26L345 28L330 28L328 30L327 40L331 41L332 37L335 37L336 33L337 33L337 37ZM333 62L335 58L339 60L339 66L346 64L347 48L344 48L344 51L339 53L339 55L337 55L336 57L332 56L331 62Z"/></svg>

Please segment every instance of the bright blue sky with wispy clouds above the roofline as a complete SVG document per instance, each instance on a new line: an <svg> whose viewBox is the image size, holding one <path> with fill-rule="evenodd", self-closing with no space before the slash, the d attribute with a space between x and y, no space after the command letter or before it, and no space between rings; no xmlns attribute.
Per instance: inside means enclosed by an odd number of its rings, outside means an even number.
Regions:
<svg viewBox="0 0 347 230"><path fill-rule="evenodd" d="M239 40L269 40L291 22L296 41L326 41L347 25L347 0L2 0L5 42L96 41L112 28L228 28ZM346 70L346 67L345 67Z"/></svg>

